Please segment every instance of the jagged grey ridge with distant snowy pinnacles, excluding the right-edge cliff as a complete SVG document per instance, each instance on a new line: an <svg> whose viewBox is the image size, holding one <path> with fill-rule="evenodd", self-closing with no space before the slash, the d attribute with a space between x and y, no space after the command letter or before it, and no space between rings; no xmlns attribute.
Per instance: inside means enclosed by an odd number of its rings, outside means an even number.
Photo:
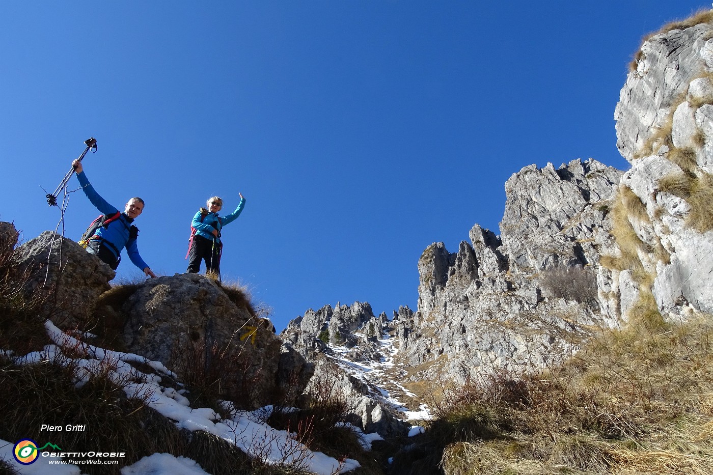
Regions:
<svg viewBox="0 0 713 475"><path fill-rule="evenodd" d="M281 337L307 359L338 360L359 382L373 383L374 374L354 363L391 364L379 373L381 390L364 395L402 418L424 403L406 386L423 394L425 381L552 364L576 349L588 325L617 321L596 281L610 278L598 263L612 245L608 210L621 175L596 160L525 167L506 183L501 235L475 225L457 252L442 242L424 250L417 312L401 307L389 320L360 302L326 306L292 320ZM582 288L562 294L553 280L563 273Z"/></svg>

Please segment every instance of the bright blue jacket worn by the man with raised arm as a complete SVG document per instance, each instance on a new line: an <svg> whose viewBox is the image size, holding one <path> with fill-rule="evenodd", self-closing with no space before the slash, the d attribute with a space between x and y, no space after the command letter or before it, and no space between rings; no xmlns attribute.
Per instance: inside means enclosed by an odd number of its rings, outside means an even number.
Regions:
<svg viewBox="0 0 713 475"><path fill-rule="evenodd" d="M81 173L77 173L77 179L79 180L79 184L82 185L84 194L87 195L91 204L96 206L96 209L101 211L104 215L116 214L118 209L107 203L104 198L101 198L99 193L96 193L96 190L94 190L94 187L91 183L89 183L89 180L83 171ZM106 228L100 226L96 230L95 234L116 248L113 249L111 246L107 246L108 249L111 250L111 253L116 255L116 257L119 257L117 252L120 253L121 250L126 247L126 252L128 253L131 262L133 262L134 265L140 270L144 270L149 266L143 261L141 255L138 253L136 238L132 239L129 236L131 223L133 223L133 219L129 218L126 213L121 213L118 220L113 220Z"/></svg>

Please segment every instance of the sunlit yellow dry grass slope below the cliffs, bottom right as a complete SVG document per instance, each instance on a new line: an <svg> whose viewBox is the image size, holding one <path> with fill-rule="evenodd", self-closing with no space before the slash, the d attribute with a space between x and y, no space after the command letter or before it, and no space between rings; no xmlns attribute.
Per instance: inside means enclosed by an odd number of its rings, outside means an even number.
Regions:
<svg viewBox="0 0 713 475"><path fill-rule="evenodd" d="M636 319L520 379L517 402L501 396L513 387L502 377L446 397L429 429L443 472L713 473L713 316L674 324L650 309Z"/></svg>

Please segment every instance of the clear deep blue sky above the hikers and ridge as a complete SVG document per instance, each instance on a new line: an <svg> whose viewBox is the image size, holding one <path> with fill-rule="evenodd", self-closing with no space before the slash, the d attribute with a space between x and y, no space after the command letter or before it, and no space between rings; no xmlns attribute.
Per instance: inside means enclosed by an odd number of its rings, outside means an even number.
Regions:
<svg viewBox="0 0 713 475"><path fill-rule="evenodd" d="M190 219L238 192L226 280L278 330L337 301L416 308L416 264L479 223L498 233L512 173L596 158L640 39L709 7L618 1L3 1L0 220L53 230L84 161L106 200L139 195L139 247L184 272ZM71 188L76 188L76 178ZM73 193L64 234L98 212ZM225 213L224 213L225 214ZM138 275L128 258L119 277Z"/></svg>

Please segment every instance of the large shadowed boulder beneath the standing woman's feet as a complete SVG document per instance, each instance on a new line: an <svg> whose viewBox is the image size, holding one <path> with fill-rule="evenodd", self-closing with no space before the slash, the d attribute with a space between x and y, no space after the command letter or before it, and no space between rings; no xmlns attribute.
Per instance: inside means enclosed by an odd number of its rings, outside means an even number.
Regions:
<svg viewBox="0 0 713 475"><path fill-rule="evenodd" d="M183 379L217 374L220 396L242 407L291 404L312 377L312 364L230 293L198 274L146 281L123 305L128 349Z"/></svg>

